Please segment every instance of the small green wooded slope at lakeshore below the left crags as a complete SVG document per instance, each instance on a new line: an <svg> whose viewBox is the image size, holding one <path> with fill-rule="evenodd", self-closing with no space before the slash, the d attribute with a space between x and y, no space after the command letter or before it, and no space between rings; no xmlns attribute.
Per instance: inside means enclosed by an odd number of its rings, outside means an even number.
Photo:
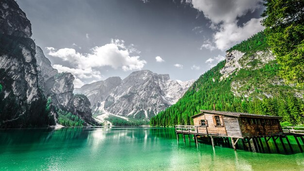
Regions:
<svg viewBox="0 0 304 171"><path fill-rule="evenodd" d="M84 126L84 120L71 112L56 109L58 114L57 122L63 126Z"/></svg>

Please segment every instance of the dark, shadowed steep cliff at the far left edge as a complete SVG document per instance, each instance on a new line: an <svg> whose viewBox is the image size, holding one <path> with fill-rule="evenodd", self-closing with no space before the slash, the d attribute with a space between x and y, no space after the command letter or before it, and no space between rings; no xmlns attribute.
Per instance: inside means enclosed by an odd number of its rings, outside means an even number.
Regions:
<svg viewBox="0 0 304 171"><path fill-rule="evenodd" d="M31 23L14 0L1 0L0 14L0 127L50 124L38 87Z"/></svg>

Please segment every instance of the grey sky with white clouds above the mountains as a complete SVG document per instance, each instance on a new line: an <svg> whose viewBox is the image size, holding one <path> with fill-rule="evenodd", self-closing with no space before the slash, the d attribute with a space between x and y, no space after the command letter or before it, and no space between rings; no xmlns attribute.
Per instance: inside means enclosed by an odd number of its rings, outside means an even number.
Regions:
<svg viewBox="0 0 304 171"><path fill-rule="evenodd" d="M33 39L75 87L132 71L197 79L263 30L261 0L17 0Z"/></svg>

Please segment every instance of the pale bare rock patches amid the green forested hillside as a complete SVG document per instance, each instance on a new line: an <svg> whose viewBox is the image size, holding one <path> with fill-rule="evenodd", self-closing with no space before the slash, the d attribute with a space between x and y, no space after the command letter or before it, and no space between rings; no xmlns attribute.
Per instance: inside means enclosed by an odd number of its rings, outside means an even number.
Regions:
<svg viewBox="0 0 304 171"><path fill-rule="evenodd" d="M269 49L249 54L236 50L231 52L227 51L225 66L220 69L220 73L222 74L220 80L228 78L230 75L233 75L233 73L237 75L241 69L254 73L262 72L267 68L274 68L276 65L275 56ZM266 68L266 66L268 67ZM258 71L258 69L261 68L263 70ZM268 72L270 73L273 71L270 69ZM273 96L278 95L279 92L282 91L281 86L290 86L290 88L293 89L292 85L286 85L284 80L277 75L261 75L261 77L255 79L254 82L250 82L250 80L252 80L250 77L247 79L235 79L231 82L231 91L237 97L248 98L250 96L255 96L258 99L263 99L264 96L272 98ZM292 91L295 96L303 98L303 90L293 89Z"/></svg>

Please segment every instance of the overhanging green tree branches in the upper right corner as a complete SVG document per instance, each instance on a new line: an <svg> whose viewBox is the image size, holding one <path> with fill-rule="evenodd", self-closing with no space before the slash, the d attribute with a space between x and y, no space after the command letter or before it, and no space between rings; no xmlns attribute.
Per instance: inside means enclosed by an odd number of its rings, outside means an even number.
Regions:
<svg viewBox="0 0 304 171"><path fill-rule="evenodd" d="M280 76L287 83L304 86L304 1L265 0L267 42L281 65Z"/></svg>

